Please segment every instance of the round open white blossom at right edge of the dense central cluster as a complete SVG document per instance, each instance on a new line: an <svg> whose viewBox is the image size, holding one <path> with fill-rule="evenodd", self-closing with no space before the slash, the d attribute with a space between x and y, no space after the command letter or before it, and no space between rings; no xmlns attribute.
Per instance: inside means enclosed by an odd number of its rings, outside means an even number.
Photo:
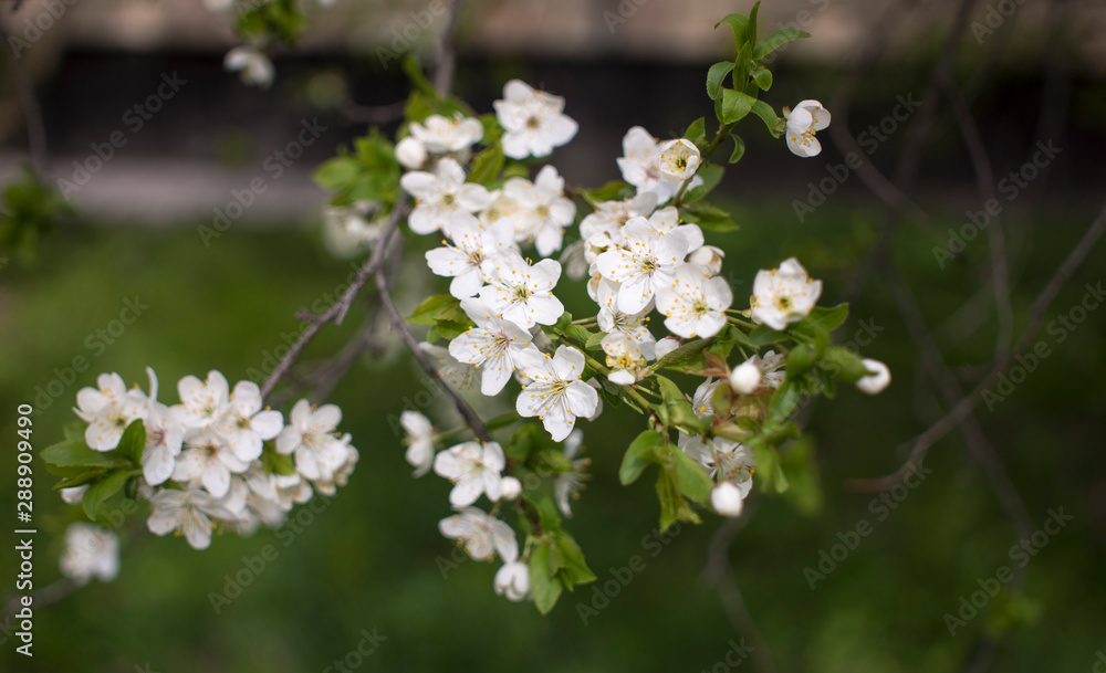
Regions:
<svg viewBox="0 0 1106 673"><path fill-rule="evenodd" d="M676 270L671 285L657 288L657 309L665 314L665 327L686 338L712 337L726 327L726 309L733 292L724 278L711 276L698 264Z"/></svg>

